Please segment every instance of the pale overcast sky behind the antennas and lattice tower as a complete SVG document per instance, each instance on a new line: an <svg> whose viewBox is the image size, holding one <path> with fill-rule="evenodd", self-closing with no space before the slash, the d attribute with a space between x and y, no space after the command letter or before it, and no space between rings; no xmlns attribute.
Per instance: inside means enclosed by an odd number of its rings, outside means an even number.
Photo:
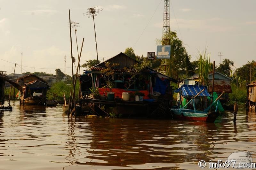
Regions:
<svg viewBox="0 0 256 170"><path fill-rule="evenodd" d="M198 50L211 52L219 65L228 58L240 67L256 60L256 1L254 0L170 0L170 26L185 44L192 61ZM71 75L68 9L77 27L78 48L85 38L81 64L96 59L92 18L87 8L102 8L95 17L98 55L101 61L132 47L136 55L156 51L162 36L164 0L0 0L0 70L21 73L64 73ZM73 56L77 60L72 28ZM80 50L79 50L80 52ZM5 61L4 61L5 60ZM83 70L83 68L82 68Z"/></svg>

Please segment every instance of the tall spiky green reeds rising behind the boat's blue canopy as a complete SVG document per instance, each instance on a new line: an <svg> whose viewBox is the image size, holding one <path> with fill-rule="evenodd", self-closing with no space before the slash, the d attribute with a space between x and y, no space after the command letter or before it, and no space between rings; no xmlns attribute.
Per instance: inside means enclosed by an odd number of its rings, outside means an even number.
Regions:
<svg viewBox="0 0 256 170"><path fill-rule="evenodd" d="M206 50L201 53L199 51L199 57L197 58L197 70L196 73L198 74L198 79L201 85L208 86L208 77L210 71L212 71L212 63L210 62L211 53L207 53L206 57Z"/></svg>

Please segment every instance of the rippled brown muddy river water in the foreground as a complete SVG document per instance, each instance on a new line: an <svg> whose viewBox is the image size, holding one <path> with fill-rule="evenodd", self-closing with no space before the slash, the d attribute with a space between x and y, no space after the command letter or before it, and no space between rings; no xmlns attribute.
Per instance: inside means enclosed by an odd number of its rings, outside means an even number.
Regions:
<svg viewBox="0 0 256 170"><path fill-rule="evenodd" d="M57 107L20 106L0 114L0 169L202 169L250 151L256 162L256 113L239 108L215 123L68 118ZM204 169L209 169L205 167Z"/></svg>

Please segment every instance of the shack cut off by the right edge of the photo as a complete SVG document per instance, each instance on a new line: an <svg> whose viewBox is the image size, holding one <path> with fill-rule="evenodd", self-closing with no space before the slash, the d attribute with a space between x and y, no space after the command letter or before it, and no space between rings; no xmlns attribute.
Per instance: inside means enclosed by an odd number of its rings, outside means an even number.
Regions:
<svg viewBox="0 0 256 170"><path fill-rule="evenodd" d="M256 109L256 81L247 85L247 107Z"/></svg>

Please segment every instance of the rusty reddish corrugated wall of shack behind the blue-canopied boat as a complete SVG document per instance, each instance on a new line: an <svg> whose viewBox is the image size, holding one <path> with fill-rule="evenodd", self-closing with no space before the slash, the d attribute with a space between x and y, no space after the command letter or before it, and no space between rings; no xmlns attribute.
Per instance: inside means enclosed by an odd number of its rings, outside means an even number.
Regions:
<svg viewBox="0 0 256 170"><path fill-rule="evenodd" d="M225 90L226 93L232 93L229 80L214 80L214 89L216 93L222 93ZM212 80L209 80L209 92L212 92Z"/></svg>

